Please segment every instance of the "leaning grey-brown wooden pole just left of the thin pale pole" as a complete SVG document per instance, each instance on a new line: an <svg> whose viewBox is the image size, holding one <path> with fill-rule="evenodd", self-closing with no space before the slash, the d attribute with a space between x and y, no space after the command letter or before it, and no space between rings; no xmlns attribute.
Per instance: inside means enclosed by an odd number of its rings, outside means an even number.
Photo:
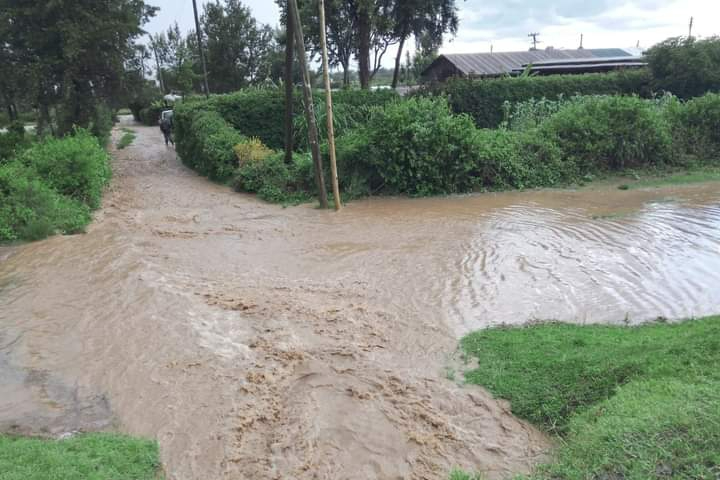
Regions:
<svg viewBox="0 0 720 480"><path fill-rule="evenodd" d="M318 141L317 123L315 119L315 105L312 98L312 86L310 85L310 73L308 72L307 57L305 56L305 39L300 23L300 12L297 8L297 0L289 0L290 17L295 31L295 48L297 48L300 71L303 78L303 100L305 104L305 117L308 123L308 142L315 164L315 184L318 189L320 208L327 208L327 191L325 190L325 178L322 171L322 157L320 157L320 142Z"/></svg>

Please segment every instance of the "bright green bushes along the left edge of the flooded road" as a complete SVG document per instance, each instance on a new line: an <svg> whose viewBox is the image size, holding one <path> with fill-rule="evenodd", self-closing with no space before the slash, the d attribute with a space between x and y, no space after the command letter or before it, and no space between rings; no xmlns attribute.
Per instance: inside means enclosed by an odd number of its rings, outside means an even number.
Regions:
<svg viewBox="0 0 720 480"><path fill-rule="evenodd" d="M0 160L0 241L82 231L110 179L98 139L77 130L14 152Z"/></svg>

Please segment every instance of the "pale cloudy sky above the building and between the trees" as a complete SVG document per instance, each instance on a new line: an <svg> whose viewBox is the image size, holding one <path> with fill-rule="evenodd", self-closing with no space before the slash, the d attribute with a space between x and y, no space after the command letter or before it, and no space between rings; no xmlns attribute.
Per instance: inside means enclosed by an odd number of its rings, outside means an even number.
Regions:
<svg viewBox="0 0 720 480"><path fill-rule="evenodd" d="M213 0L215 1L215 0ZM177 21L184 31L194 26L192 0L146 0L160 7L146 29L163 31ZM202 10L198 0L198 8ZM244 0L255 18L278 24L274 0ZM647 48L667 37L720 34L720 0L457 0L460 29L441 53L526 50L529 32L539 32L539 47L577 48L584 34L586 48ZM386 66L392 65L392 55Z"/></svg>

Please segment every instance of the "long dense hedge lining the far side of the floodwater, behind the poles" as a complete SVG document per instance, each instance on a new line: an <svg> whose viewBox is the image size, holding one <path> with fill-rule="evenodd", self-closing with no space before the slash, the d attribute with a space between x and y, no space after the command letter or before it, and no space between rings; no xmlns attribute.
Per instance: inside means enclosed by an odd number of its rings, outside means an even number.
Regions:
<svg viewBox="0 0 720 480"><path fill-rule="evenodd" d="M720 162L718 94L687 102L670 95L530 100L506 105L497 129L478 129L469 115L454 114L443 97L362 96L365 105L338 95L335 108L338 172L346 199L376 192L432 195L556 186L628 169ZM235 170L242 165L232 153L233 142L257 138L272 149L282 146L277 125L283 104L277 90L261 89L180 106L178 153L215 180L237 179ZM269 107L265 115L264 106ZM318 112L323 118L324 109ZM304 120L296 120L296 129L305 134ZM305 145L298 142L301 151ZM236 188L264 191L264 198L275 201L297 199L303 190L309 196L309 163L303 160L298 168L278 159L268 155L250 162L255 180L235 181ZM255 165L265 161L270 163ZM258 186L263 178L265 189ZM283 185L287 196L279 194Z"/></svg>

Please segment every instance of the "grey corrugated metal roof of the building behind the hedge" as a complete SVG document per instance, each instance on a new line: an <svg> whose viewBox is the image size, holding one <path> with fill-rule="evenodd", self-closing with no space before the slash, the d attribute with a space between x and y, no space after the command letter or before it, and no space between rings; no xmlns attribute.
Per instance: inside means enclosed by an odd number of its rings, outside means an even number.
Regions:
<svg viewBox="0 0 720 480"><path fill-rule="evenodd" d="M498 76L512 73L529 63L546 60L571 60L587 58L628 57L630 53L620 48L593 48L582 50L533 50L526 52L454 53L440 55L423 72L432 70L443 59L453 64L463 75Z"/></svg>

